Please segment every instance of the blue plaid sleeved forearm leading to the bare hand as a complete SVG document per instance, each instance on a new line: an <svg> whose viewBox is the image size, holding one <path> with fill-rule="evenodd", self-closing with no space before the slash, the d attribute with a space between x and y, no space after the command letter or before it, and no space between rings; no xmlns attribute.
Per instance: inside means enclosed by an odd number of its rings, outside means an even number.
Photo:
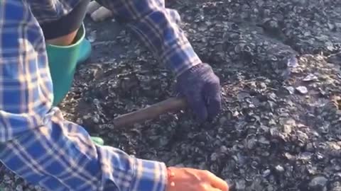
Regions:
<svg viewBox="0 0 341 191"><path fill-rule="evenodd" d="M94 145L85 129L62 122L58 109L50 115L45 126L0 147L1 162L25 180L48 190L165 190L163 163Z"/></svg>

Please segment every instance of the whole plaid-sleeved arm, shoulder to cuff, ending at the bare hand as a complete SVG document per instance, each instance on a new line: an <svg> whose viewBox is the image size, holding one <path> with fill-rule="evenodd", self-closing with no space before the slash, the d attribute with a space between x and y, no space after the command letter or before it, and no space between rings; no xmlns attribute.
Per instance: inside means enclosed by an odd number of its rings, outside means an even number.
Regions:
<svg viewBox="0 0 341 191"><path fill-rule="evenodd" d="M48 190L165 190L164 163L94 145L51 109L45 42L28 7L0 1L0 161Z"/></svg>

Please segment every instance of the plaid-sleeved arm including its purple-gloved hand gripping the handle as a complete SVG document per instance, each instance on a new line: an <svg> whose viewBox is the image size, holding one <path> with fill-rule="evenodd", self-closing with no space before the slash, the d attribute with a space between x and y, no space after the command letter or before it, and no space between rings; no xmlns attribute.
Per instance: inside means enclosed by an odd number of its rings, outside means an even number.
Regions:
<svg viewBox="0 0 341 191"><path fill-rule="evenodd" d="M216 117L222 107L220 79L209 64L202 63L183 31L178 12L165 8L164 0L96 0L126 23L154 57L177 76L177 93L185 96L197 120Z"/></svg>

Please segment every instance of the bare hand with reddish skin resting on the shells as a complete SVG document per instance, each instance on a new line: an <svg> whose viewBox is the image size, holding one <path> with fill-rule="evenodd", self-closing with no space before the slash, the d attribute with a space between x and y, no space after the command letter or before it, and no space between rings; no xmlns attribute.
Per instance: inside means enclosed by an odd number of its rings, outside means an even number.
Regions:
<svg viewBox="0 0 341 191"><path fill-rule="evenodd" d="M166 191L229 191L227 183L207 170L168 168L171 173Z"/></svg>

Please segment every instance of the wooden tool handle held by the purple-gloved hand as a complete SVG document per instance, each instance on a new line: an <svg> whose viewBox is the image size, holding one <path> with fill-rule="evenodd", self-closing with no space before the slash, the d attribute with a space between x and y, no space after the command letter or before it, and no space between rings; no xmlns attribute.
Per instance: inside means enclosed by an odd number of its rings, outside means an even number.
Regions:
<svg viewBox="0 0 341 191"><path fill-rule="evenodd" d="M175 112L187 107L185 98L169 98L141 110L120 115L114 119L114 127L134 125L137 122L152 120L166 112Z"/></svg>

